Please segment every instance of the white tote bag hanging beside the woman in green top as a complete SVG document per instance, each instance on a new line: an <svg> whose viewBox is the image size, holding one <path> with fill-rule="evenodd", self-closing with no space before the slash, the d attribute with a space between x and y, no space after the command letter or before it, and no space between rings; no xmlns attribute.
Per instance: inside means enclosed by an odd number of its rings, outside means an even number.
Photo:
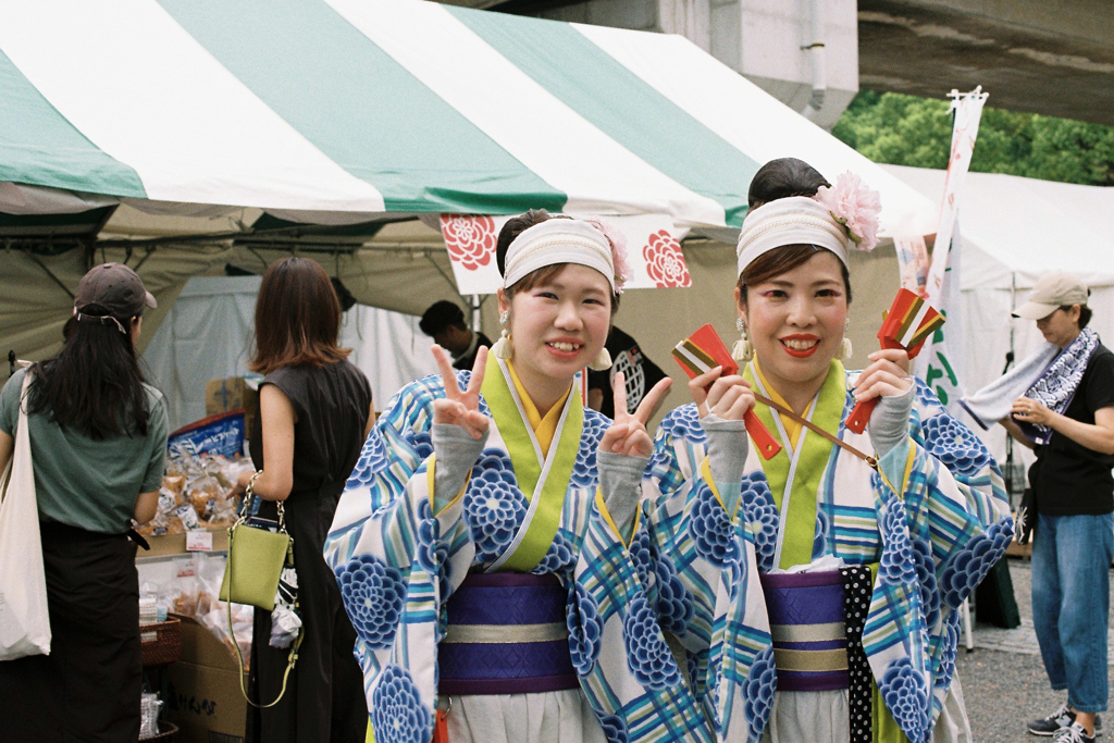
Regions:
<svg viewBox="0 0 1114 743"><path fill-rule="evenodd" d="M30 383L28 371L20 393L16 450L0 476L0 661L50 654L47 577L27 426Z"/></svg>

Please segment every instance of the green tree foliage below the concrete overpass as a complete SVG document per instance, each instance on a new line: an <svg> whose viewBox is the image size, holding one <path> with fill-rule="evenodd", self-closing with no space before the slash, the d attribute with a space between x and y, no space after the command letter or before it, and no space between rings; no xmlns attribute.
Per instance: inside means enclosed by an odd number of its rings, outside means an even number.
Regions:
<svg viewBox="0 0 1114 743"><path fill-rule="evenodd" d="M948 101L861 91L832 134L876 163L944 168ZM1114 186L1114 127L987 107L971 170Z"/></svg>

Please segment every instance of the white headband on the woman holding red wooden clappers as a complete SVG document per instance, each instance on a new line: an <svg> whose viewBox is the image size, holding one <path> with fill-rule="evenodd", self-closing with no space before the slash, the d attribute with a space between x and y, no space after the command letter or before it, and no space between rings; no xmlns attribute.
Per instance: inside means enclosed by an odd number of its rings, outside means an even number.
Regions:
<svg viewBox="0 0 1114 743"><path fill-rule="evenodd" d="M789 196L752 209L743 219L735 255L739 275L754 258L785 245L815 245L848 265L851 238L828 207L808 196Z"/></svg>

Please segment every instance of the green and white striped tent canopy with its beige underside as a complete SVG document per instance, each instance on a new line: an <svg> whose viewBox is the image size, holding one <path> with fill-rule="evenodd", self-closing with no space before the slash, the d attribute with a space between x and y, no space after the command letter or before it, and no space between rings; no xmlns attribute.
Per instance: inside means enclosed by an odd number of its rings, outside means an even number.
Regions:
<svg viewBox="0 0 1114 743"><path fill-rule="evenodd" d="M294 245L365 304L459 300L446 213L654 215L733 243L781 156L879 189L883 237L935 231L929 199L681 37L418 0L0 0L0 247L27 248L0 251L0 350L56 350L90 261L139 266L146 339L190 276ZM707 306L731 248L684 251L698 292L624 301L658 358L734 322Z"/></svg>

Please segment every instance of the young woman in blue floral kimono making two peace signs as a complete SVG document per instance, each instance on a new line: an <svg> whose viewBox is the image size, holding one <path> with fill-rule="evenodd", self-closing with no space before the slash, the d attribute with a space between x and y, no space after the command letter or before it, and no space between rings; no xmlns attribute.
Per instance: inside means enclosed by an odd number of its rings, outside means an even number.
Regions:
<svg viewBox="0 0 1114 743"><path fill-rule="evenodd" d="M368 438L325 554L379 743L441 725L452 743L714 739L616 530L667 381L615 422L574 387L610 365L617 243L545 212L511 219L504 336L471 372L434 346L441 375L403 388Z"/></svg>

